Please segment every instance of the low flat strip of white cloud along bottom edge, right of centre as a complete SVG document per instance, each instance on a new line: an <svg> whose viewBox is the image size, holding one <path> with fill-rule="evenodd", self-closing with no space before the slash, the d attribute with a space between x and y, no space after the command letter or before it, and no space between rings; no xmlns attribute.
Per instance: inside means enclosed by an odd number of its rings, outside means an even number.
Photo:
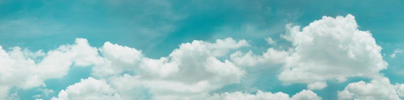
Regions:
<svg viewBox="0 0 404 100"><path fill-rule="evenodd" d="M312 99L312 100L320 100L322 99L321 97L317 96L316 93L314 93L311 90L302 90L292 97L289 97L288 94L283 93L283 92L264 92L261 90L258 90L256 94L249 94L249 93L243 93L240 91L236 92L225 92L222 94L213 94L210 98L208 99L268 99L268 100L307 100L307 99Z"/></svg>

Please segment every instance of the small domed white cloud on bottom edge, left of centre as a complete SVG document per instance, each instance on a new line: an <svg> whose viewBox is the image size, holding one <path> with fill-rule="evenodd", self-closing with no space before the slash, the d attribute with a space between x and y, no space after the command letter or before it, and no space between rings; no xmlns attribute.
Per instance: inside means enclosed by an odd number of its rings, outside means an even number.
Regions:
<svg viewBox="0 0 404 100"><path fill-rule="evenodd" d="M81 79L80 82L68 86L59 92L53 100L64 99L121 99L119 94L111 88L105 80L97 80L92 77Z"/></svg>

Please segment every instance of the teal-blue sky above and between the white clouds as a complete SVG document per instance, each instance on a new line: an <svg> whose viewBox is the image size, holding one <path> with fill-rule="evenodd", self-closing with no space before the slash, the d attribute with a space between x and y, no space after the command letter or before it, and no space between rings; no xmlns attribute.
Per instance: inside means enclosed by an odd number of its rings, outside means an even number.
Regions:
<svg viewBox="0 0 404 100"><path fill-rule="evenodd" d="M22 49L30 50L32 52L42 50L45 53L44 57L38 57L38 58L31 57L32 59L35 60L36 64L43 61L42 59L45 58L46 55L50 55L47 53L48 51L59 50L57 48L60 48L61 45L78 44L75 43L75 40L77 38L86 39L86 41L88 41L91 47L97 49L102 49L103 46L106 46L105 42L109 41L112 44L127 46L127 48L135 48L136 51L141 51L141 54L149 59L160 59L160 57L168 57L172 59L167 62L172 62L175 61L174 59L176 59L177 57L177 56L171 56L171 54L173 54L172 52L174 52L173 50L177 49L180 51L182 50L181 48L186 48L185 45L181 45L182 43L191 43L193 40L200 40L215 44L218 43L217 39L226 39L228 37L231 37L232 40L235 40L237 43L240 43L239 44L240 47L236 46L226 48L225 51L229 49L228 52L224 53L224 55L221 56L216 55L209 55L209 56L214 56L215 59L218 59L220 62L223 63L225 62L226 59L229 60L231 63L234 63L234 65L237 68L245 72L245 74L240 76L244 78L242 79L237 78L238 82L229 82L226 84L215 84L215 85L213 83L222 81L216 81L216 80L211 81L210 78L206 78L208 79L207 81L211 85L218 87L204 91L204 93L222 94L223 92L241 91L244 93L257 94L257 90L263 90L263 91L271 91L273 93L283 92L292 96L302 91L302 89L308 89L307 85L310 84L311 82L292 82L291 84L285 85L284 82L288 81L280 79L280 77L282 76L282 74L280 73L283 72L282 70L284 69L286 70L287 68L289 68L285 66L289 65L288 63L290 62L286 62L286 64L262 63L257 64L254 67L242 67L241 65L238 65L237 62L233 60L233 58L231 58L231 54L235 53L236 51L245 53L251 50L251 52L254 53L255 55L263 55L265 52L267 52L268 48L275 48L276 50L280 51L283 50L289 53L298 52L297 49L288 51L288 48L299 47L292 44L293 42L297 41L296 39L289 41L281 37L284 34L290 33L288 32L289 30L287 29L287 27L285 27L287 24L293 26L300 26L300 28L303 28L305 26L309 26L310 23L315 23L314 21L316 20L325 21L323 16L332 18L335 18L336 16L342 16L348 18L347 15L350 14L352 16L355 16L354 19L356 21L355 23L357 23L359 26L357 30L364 32L368 31L369 33L371 33L371 37L374 38L376 45L383 48L381 49L381 52L378 52L378 54L382 56L382 60L388 63L388 65L385 65L386 66L385 69L377 70L377 72L379 72L380 75L387 77L392 85L394 85L395 83L404 83L404 74L403 74L404 67L401 66L402 61L404 59L404 55L402 53L402 50L404 49L403 46L404 40L402 39L404 37L403 34L404 23L402 23L403 22L402 18L404 18L404 12L402 12L402 10L404 10L404 1L400 0L391 0L391 1L390 0L389 1L0 0L0 45L10 55L11 55L10 52L13 50L11 48L16 46ZM305 33L304 30L300 29L300 31L302 33ZM276 45L268 44L267 41L265 40L267 37L271 37L273 40L275 40ZM241 40L245 40L248 43L248 46L242 45ZM354 41L354 44L356 43L355 39L352 41ZM194 43L192 42L192 44ZM219 48L219 47L212 47L212 48ZM321 47L320 50L322 50ZM395 53L395 56L392 57L391 54L393 54L394 51L397 52ZM96 53L99 53L99 56L107 58L108 56L106 56L105 52L107 51L96 50ZM124 59L125 57L121 58ZM328 58L331 59L333 57ZM115 60L116 59L118 58L115 58ZM78 63L74 62L75 60L72 61L73 63ZM350 65L361 66L362 64L362 63L357 64L355 63L355 61L353 62L354 63L342 61L342 63L347 63L347 66ZM375 64L375 63L369 62L368 64ZM84 67L80 67L76 66L76 64L72 64L71 67L68 67L68 70L66 72L67 74L65 75L55 78L43 78L42 81L44 82L45 85L30 86L29 88L22 88L23 86L8 85L9 87L11 87L11 89L8 90L9 92L7 93L7 95L9 97L13 96L19 99L35 99L36 97L34 95L41 94L39 98L51 99L54 96L58 97L58 94L60 94L59 91L61 90L67 91L66 88L69 85L73 85L75 83L83 81L81 79L91 80L88 77L94 77L96 80L104 79L104 81L106 81L108 85L112 85L113 83L111 80L112 78L123 77L124 76L123 74L125 73L128 73L131 76L136 76L148 72L148 71L143 72L136 70L132 71L129 70L130 69L129 68L128 70L124 70L123 72L115 73L111 77L104 77L104 76L97 76L96 74L93 73L94 67L97 67L97 64L88 64L88 65L84 64L84 65L85 65ZM126 66L125 64L117 64L116 66L120 65ZM131 67L136 66L140 65L133 65ZM185 64L184 66L189 65ZM303 65L297 64L295 66L303 66ZM360 70L360 69L354 68L350 70ZM18 73L23 71L16 71L16 72ZM207 75L207 77L208 76L209 75ZM182 79L178 79L181 77L182 76L176 76L174 78L169 79L181 80L182 82ZM182 78L185 79L187 77ZM374 77L366 75L362 76L349 75L346 76L346 78L347 80L343 82L337 82L336 80L333 80L331 78L321 79L321 82L326 81L327 86L323 87L322 89L311 89L311 90L315 92L318 96L320 96L322 99L338 99L337 92L344 90L344 88L350 83L358 82L361 80L370 83L371 80L377 80ZM0 82L4 82L0 85L9 84L1 79ZM153 84L153 83L144 83L144 84ZM113 87L112 89L117 89L114 86L112 87ZM51 92L48 95L44 95L43 89L52 90L54 92ZM129 92L136 92L138 94L144 93L142 96L144 99L152 99L152 98L159 99L158 96L155 97L154 95L163 94L162 92L156 93L156 91L159 91L161 88L156 89L154 87L151 88L146 86L135 89L139 90L133 90ZM404 87L402 89L404 90ZM400 94L398 93L399 92L398 89L393 91L397 92L398 97L402 98L402 96L404 96L404 94L400 96ZM119 92L115 93L119 94ZM123 97L123 99L125 99L124 94L120 95ZM174 95L174 94L167 94L167 95ZM355 95L355 97L357 96L358 95ZM185 96L180 95L180 97ZM358 97L360 97L360 95Z"/></svg>

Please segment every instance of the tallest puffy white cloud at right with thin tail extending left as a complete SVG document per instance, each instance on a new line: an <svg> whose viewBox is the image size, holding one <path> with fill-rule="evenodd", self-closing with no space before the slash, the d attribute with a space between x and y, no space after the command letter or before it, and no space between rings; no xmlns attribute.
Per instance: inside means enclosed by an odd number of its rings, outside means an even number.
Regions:
<svg viewBox="0 0 404 100"><path fill-rule="evenodd" d="M300 26L286 25L284 39L292 43L287 51L269 48L263 55L236 52L232 61L240 66L283 64L278 79L285 84L308 83L309 89L321 89L323 81L347 77L380 77L387 68L369 31L358 29L355 17L323 17L300 30ZM316 86L315 86L316 85Z"/></svg>

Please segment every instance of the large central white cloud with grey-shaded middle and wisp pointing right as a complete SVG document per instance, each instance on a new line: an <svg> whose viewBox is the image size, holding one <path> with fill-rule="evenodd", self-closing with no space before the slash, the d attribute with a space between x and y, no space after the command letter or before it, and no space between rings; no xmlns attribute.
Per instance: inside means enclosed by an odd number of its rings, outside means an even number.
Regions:
<svg viewBox="0 0 404 100"><path fill-rule="evenodd" d="M145 57L138 66L137 76L126 75L116 79L138 80L136 83L148 88L154 99L204 96L213 89L241 80L244 70L216 57L243 46L248 46L245 40L231 38L218 39L216 43L194 40L181 44L168 57ZM119 80L114 81L122 84Z"/></svg>

